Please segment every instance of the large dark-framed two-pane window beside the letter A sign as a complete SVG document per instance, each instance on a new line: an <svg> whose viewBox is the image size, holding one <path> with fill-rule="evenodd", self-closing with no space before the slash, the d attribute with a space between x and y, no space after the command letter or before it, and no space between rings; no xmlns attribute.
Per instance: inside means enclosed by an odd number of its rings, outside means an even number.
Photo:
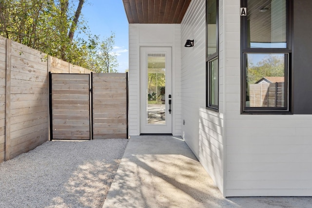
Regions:
<svg viewBox="0 0 312 208"><path fill-rule="evenodd" d="M242 113L290 112L288 0L242 0Z"/></svg>

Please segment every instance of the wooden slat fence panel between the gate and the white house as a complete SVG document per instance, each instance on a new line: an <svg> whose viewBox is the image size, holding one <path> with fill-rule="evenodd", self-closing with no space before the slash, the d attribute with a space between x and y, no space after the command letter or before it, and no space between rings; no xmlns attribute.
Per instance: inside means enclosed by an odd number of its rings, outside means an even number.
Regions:
<svg viewBox="0 0 312 208"><path fill-rule="evenodd" d="M125 73L92 73L93 138L127 138Z"/></svg>

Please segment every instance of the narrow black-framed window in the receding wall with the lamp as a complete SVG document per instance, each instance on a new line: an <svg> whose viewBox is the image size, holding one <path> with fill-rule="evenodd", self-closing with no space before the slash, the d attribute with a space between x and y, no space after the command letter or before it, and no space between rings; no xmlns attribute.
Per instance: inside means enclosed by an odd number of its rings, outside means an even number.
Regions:
<svg viewBox="0 0 312 208"><path fill-rule="evenodd" d="M213 111L219 108L218 4L218 0L206 0L206 107Z"/></svg>

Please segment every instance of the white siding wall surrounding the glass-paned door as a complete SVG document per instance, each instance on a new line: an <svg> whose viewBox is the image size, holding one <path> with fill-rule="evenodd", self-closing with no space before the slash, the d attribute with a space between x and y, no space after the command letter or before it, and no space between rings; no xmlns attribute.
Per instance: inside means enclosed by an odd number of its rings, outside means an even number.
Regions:
<svg viewBox="0 0 312 208"><path fill-rule="evenodd" d="M173 135L181 135L179 24L129 24L129 135L140 134L140 47L172 47Z"/></svg>

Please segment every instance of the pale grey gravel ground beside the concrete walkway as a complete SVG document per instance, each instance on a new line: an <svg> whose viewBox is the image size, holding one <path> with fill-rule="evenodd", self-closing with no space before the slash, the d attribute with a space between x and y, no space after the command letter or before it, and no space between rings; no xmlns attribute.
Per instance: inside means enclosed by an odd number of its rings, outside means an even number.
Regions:
<svg viewBox="0 0 312 208"><path fill-rule="evenodd" d="M48 141L0 164L0 208L101 208L127 139Z"/></svg>

